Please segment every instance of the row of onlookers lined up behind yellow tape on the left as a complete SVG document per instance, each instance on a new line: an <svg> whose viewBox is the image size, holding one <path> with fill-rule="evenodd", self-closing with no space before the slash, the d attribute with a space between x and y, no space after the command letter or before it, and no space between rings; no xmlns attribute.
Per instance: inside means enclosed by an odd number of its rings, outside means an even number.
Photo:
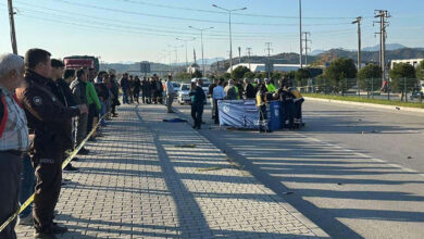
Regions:
<svg viewBox="0 0 424 239"><path fill-rule="evenodd" d="M35 238L55 238L67 228L54 223L62 184L62 163L83 141L96 141L101 127L117 117L116 76L95 68L64 70L62 61L42 49L25 58L0 55L0 223L34 193L33 205L18 215L34 225ZM97 127L98 122L101 127ZM95 129L95 130L93 130ZM77 158L74 158L77 160ZM67 164L65 171L78 168ZM0 238L16 238L16 219Z"/></svg>

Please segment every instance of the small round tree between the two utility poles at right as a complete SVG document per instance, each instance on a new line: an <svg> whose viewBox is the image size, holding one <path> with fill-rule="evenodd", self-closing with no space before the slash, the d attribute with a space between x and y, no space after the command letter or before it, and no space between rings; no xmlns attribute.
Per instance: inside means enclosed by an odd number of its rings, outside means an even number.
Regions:
<svg viewBox="0 0 424 239"><path fill-rule="evenodd" d="M382 87L382 68L376 64L367 64L358 72L358 86L366 92Z"/></svg>

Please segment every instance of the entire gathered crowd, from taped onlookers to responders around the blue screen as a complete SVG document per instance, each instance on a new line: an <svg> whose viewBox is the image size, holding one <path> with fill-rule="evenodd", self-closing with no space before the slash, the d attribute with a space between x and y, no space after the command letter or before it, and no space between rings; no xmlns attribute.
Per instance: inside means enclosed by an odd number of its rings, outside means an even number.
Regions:
<svg viewBox="0 0 424 239"><path fill-rule="evenodd" d="M132 76L124 73L120 80L113 72L96 72L95 68L65 68L62 61L51 59L42 49L29 49L25 58L8 53L0 55L0 223L13 215L30 194L33 205L18 215L18 224L34 225L35 238L55 238L67 228L54 223L54 207L59 200L62 163L73 151L88 154L86 139L96 141L107 121L117 117L119 95L122 90L124 104L166 104L174 113L172 103L176 97L172 75L165 84L157 76ZM191 116L194 128L202 125L207 96L203 81L191 81ZM250 83L214 79L209 93L212 98L212 118L220 124L220 100L255 100L259 110L260 131L267 128L267 103L283 103L283 124L295 129L301 126L303 98L296 88L280 80L276 89L267 78ZM100 121L100 122L99 122ZM100 127L97 127L100 125ZM78 160L77 158L73 159ZM71 163L64 171L77 171ZM1 232L2 238L16 238L11 222Z"/></svg>

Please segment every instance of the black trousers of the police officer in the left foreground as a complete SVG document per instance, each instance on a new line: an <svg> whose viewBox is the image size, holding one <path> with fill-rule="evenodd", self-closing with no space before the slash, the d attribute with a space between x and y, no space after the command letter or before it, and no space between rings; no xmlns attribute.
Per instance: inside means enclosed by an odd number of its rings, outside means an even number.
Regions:
<svg viewBox="0 0 424 239"><path fill-rule="evenodd" d="M34 228L36 231L51 232L54 218L54 207L59 200L62 181L63 155L57 159L33 155L32 161L37 178L34 196Z"/></svg>

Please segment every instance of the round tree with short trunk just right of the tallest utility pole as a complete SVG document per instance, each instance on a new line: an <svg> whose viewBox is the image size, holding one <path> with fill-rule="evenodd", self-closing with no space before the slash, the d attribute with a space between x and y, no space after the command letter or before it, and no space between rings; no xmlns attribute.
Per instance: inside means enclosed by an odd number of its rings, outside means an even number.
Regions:
<svg viewBox="0 0 424 239"><path fill-rule="evenodd" d="M391 88L401 92L401 99L403 100L403 95L410 90L414 90L417 87L417 80L415 78L415 68L408 63L397 63L394 64L394 67L389 72L391 78ZM406 100L408 100L406 98Z"/></svg>

